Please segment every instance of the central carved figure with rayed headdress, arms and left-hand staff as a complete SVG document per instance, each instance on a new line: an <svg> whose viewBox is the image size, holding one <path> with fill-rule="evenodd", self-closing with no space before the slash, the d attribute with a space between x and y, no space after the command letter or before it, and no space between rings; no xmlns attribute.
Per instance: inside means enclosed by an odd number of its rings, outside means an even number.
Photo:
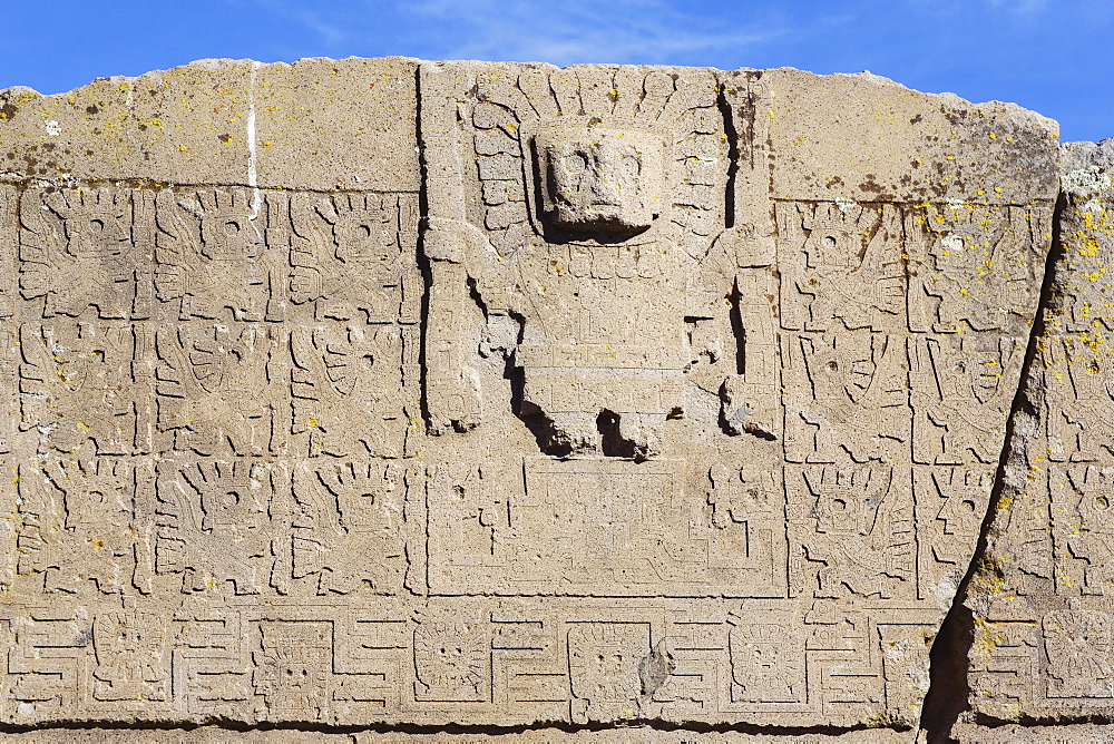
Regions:
<svg viewBox="0 0 1114 744"><path fill-rule="evenodd" d="M735 261L710 255L725 222L723 117L711 78L575 75L487 79L473 129L467 116L422 123L427 163L459 166L427 168L428 413L434 433L479 423L471 297L489 322L518 322L520 415L541 417L545 452L654 457L684 415L686 370L720 356L709 329L727 326ZM470 129L476 170L450 151Z"/></svg>

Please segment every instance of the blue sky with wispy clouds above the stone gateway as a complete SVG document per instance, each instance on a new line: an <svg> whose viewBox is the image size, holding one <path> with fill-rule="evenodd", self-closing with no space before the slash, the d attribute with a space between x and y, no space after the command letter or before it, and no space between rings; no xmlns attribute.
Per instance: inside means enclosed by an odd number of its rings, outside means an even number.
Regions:
<svg viewBox="0 0 1114 744"><path fill-rule="evenodd" d="M0 88L205 57L870 70L1114 136L1114 0L0 0Z"/></svg>

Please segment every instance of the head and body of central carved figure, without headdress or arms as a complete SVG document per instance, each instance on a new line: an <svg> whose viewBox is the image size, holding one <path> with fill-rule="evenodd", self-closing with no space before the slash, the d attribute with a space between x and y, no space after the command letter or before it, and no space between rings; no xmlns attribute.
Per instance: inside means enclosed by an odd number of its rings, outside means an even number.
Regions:
<svg viewBox="0 0 1114 744"><path fill-rule="evenodd" d="M603 415L636 452L656 452L688 361L687 267L675 246L638 239L664 209L663 143L587 127L534 145L544 228L559 242L517 266L525 296L511 311L537 326L516 351L524 402L551 421L557 449L594 447Z"/></svg>

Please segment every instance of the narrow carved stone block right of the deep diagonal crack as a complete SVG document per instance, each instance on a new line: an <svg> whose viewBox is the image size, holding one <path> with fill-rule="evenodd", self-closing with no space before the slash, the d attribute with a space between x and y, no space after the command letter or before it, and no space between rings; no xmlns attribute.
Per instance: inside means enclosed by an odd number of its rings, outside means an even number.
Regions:
<svg viewBox="0 0 1114 744"><path fill-rule="evenodd" d="M1063 163L1061 252L967 598L971 705L1006 721L1114 714L1114 140L1067 144Z"/></svg>

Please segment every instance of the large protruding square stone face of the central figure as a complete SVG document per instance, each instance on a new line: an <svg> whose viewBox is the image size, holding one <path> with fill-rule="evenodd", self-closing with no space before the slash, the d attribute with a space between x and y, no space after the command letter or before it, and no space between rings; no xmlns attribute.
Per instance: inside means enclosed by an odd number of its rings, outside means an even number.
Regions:
<svg viewBox="0 0 1114 744"><path fill-rule="evenodd" d="M543 200L551 223L578 233L634 235L662 213L661 137L603 127L539 136Z"/></svg>

